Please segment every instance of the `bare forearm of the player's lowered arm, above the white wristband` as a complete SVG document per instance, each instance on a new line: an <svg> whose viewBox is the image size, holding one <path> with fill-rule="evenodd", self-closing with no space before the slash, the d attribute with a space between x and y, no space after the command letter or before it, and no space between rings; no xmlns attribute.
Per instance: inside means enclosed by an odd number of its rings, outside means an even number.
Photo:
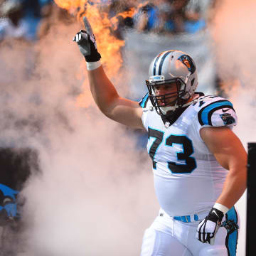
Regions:
<svg viewBox="0 0 256 256"><path fill-rule="evenodd" d="M247 173L245 166L240 171L230 170L225 180L223 191L216 203L220 203L227 208L232 208L245 192L247 186Z"/></svg>

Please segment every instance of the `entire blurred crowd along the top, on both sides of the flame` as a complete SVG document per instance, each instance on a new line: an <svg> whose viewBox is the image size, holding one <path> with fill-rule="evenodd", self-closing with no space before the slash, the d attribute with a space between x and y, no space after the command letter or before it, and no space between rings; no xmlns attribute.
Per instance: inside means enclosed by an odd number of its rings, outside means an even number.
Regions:
<svg viewBox="0 0 256 256"><path fill-rule="evenodd" d="M214 0L102 0L109 17L118 18L115 33L119 37L124 28L169 35L196 33L206 28L208 10L214 3ZM119 15L132 8L133 16ZM75 17L56 6L53 0L0 0L0 41L4 38L36 41L46 35L56 20L69 23Z"/></svg>

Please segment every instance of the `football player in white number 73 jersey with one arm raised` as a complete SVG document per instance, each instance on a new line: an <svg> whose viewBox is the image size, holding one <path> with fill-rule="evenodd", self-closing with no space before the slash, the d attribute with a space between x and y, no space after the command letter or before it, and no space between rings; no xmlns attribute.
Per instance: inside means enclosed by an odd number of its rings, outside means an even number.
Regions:
<svg viewBox="0 0 256 256"><path fill-rule="evenodd" d="M149 134L161 209L144 233L141 255L235 255L234 204L246 188L247 154L232 132L233 104L196 92L196 64L179 50L157 55L149 66L149 92L139 104L127 100L107 78L95 36L80 31L73 41L85 56L90 90L102 113Z"/></svg>

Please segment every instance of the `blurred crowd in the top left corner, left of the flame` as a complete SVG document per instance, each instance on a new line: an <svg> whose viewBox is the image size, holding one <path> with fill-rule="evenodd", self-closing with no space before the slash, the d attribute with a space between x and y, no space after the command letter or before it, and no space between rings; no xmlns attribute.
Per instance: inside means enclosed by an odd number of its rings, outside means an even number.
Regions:
<svg viewBox="0 0 256 256"><path fill-rule="evenodd" d="M0 41L36 41L56 18L70 22L68 12L58 8L53 0L0 0Z"/></svg>

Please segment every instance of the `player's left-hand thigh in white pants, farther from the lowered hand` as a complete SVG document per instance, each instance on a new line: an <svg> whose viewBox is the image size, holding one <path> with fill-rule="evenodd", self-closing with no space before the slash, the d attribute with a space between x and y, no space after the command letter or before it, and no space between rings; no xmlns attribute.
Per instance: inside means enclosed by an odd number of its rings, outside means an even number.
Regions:
<svg viewBox="0 0 256 256"><path fill-rule="evenodd" d="M154 228L148 228L142 241L141 256L192 256L176 238Z"/></svg>

